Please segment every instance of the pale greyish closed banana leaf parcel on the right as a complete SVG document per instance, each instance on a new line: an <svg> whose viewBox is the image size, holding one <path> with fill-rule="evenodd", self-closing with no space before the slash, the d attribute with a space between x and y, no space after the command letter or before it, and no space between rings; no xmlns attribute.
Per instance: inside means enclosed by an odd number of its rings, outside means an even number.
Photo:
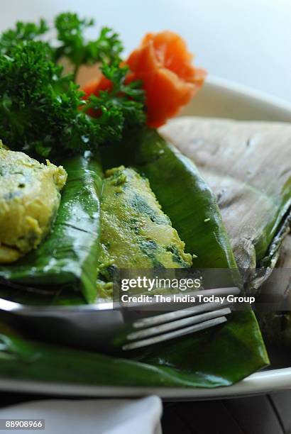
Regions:
<svg viewBox="0 0 291 434"><path fill-rule="evenodd" d="M216 194L238 267L268 277L290 224L291 125L183 117L160 133Z"/></svg>

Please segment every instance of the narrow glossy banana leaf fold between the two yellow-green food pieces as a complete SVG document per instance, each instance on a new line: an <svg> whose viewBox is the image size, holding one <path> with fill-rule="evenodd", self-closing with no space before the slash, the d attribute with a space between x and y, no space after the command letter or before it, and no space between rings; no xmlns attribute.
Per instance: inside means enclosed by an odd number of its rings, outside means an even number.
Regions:
<svg viewBox="0 0 291 434"><path fill-rule="evenodd" d="M63 165L68 178L52 231L38 249L13 265L1 266L0 278L8 286L12 283L23 289L31 285L57 291L70 286L92 302L96 298L101 167L89 155Z"/></svg>

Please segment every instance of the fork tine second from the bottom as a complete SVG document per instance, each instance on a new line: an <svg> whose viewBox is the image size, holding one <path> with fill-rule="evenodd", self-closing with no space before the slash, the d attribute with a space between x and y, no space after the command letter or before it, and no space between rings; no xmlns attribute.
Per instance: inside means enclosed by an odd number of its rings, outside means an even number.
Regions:
<svg viewBox="0 0 291 434"><path fill-rule="evenodd" d="M201 315L190 316L190 318L182 318L177 321L171 321L170 323L164 323L162 325L153 326L143 330L138 330L127 335L128 340L137 340L141 338L148 338L152 335L158 335L160 333L165 333L170 330L175 330L176 328L182 328L186 325L192 325L197 323L202 323L202 321L207 321L212 318L217 318L219 316L229 315L231 313L230 308L220 309L219 311L211 311L207 313L202 313Z"/></svg>

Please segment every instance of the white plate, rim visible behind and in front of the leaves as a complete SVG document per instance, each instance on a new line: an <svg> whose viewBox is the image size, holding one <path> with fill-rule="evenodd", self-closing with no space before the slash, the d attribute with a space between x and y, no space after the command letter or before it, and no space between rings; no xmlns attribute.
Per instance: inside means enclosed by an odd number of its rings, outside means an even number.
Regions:
<svg viewBox="0 0 291 434"><path fill-rule="evenodd" d="M201 91L181 114L256 121L291 121L291 105L216 77L208 77ZM0 389L37 394L70 396L136 397L155 394L163 399L221 399L291 389L291 367L270 369L233 386L216 389L163 387L112 387L27 382L1 379Z"/></svg>

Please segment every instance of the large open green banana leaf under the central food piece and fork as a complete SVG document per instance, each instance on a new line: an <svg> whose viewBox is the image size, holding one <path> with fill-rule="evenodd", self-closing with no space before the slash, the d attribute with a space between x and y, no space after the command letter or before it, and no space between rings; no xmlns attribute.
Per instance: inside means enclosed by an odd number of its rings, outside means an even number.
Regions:
<svg viewBox="0 0 291 434"><path fill-rule="evenodd" d="M182 231L180 236L186 250L197 255L194 267L236 269L212 191L190 160L155 131L145 130L123 147L104 148L102 159L106 167L133 165L149 177L173 226ZM7 346L6 350L2 346L3 357L0 352L0 371L14 378L127 386L215 387L233 384L268 365L268 355L251 310L232 313L227 323L212 330L148 348L139 352L136 360L96 355L12 335L3 334L2 338ZM7 354L13 356L9 362Z"/></svg>

